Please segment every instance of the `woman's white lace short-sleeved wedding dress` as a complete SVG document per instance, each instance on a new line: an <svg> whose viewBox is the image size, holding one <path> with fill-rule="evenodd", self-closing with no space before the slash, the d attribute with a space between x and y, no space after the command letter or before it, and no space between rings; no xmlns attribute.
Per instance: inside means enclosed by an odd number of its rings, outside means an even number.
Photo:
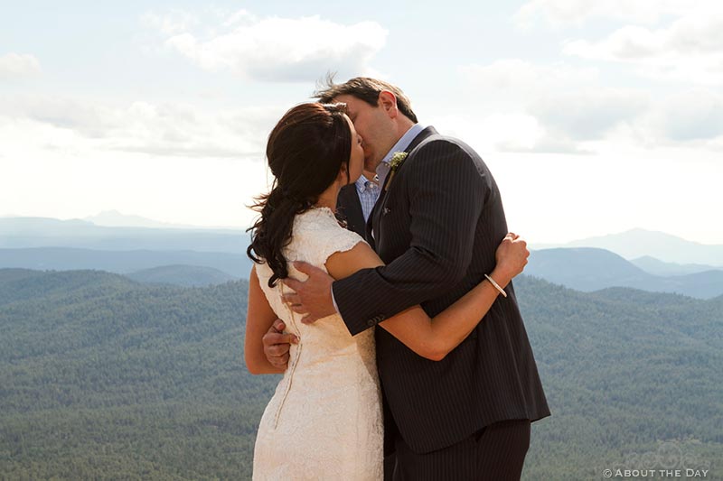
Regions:
<svg viewBox="0 0 723 481"><path fill-rule="evenodd" d="M284 254L325 270L334 252L362 238L339 226L329 208L296 216ZM296 334L286 374L268 402L254 449L255 480L379 480L382 478L381 399L373 329L352 337L339 315L302 324L281 299L282 284L268 287L271 270L257 264L268 303Z"/></svg>

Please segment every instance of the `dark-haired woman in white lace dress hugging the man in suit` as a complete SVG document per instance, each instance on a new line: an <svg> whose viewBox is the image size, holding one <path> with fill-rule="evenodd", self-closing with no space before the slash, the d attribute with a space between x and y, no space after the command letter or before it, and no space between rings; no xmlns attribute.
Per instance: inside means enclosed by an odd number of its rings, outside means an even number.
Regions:
<svg viewBox="0 0 723 481"><path fill-rule="evenodd" d="M261 342L276 319L285 322L297 343L258 427L254 479L381 479L383 425L373 329L352 337L338 314L305 325L282 300L287 277L305 278L295 261L325 269L334 279L383 264L334 214L339 190L362 173L362 138L343 104L302 104L274 127L267 158L275 180L258 198L260 217L248 250L256 263L244 347L249 372L282 373L268 363ZM524 241L508 234L490 277L504 287L522 272L528 255ZM465 342L498 294L485 280L433 319L416 306L379 326L434 362Z"/></svg>

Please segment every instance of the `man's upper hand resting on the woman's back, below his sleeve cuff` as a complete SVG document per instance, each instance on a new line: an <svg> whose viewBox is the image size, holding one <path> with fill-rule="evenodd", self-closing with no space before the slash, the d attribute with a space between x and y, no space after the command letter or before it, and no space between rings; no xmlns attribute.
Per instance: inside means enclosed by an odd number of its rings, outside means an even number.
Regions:
<svg viewBox="0 0 723 481"><path fill-rule="evenodd" d="M311 324L315 320L335 314L332 299L333 277L311 264L296 262L294 267L309 277L303 282L291 277L284 279L286 286L294 290L284 294L284 301L289 308L304 314L301 318L304 324Z"/></svg>

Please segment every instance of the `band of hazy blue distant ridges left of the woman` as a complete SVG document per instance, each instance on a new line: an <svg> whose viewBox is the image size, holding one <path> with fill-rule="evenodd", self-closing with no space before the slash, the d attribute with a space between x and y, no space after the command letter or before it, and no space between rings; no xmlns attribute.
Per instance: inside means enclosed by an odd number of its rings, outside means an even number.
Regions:
<svg viewBox="0 0 723 481"><path fill-rule="evenodd" d="M115 211L91 218L106 223L146 224L146 227L97 226L80 219L0 218L0 268L134 273L168 265L189 265L221 271L230 276L228 279L249 276L251 262L246 256L249 234L241 230L163 225ZM163 277L158 272L140 275ZM194 276L199 281L199 276L193 274L184 275L184 282L196 282L192 281ZM210 271L202 277L200 285L217 283L222 278L211 275ZM168 281L169 278L164 278L159 282Z"/></svg>

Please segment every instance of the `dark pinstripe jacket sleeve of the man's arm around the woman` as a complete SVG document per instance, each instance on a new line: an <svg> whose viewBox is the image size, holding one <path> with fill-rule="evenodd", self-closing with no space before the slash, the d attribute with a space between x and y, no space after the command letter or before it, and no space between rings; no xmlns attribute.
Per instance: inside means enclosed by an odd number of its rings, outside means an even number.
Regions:
<svg viewBox="0 0 723 481"><path fill-rule="evenodd" d="M408 196L408 250L388 265L333 283L352 335L449 290L463 279L474 254L475 227L489 193L482 170L463 146L444 139L413 155L392 187Z"/></svg>

